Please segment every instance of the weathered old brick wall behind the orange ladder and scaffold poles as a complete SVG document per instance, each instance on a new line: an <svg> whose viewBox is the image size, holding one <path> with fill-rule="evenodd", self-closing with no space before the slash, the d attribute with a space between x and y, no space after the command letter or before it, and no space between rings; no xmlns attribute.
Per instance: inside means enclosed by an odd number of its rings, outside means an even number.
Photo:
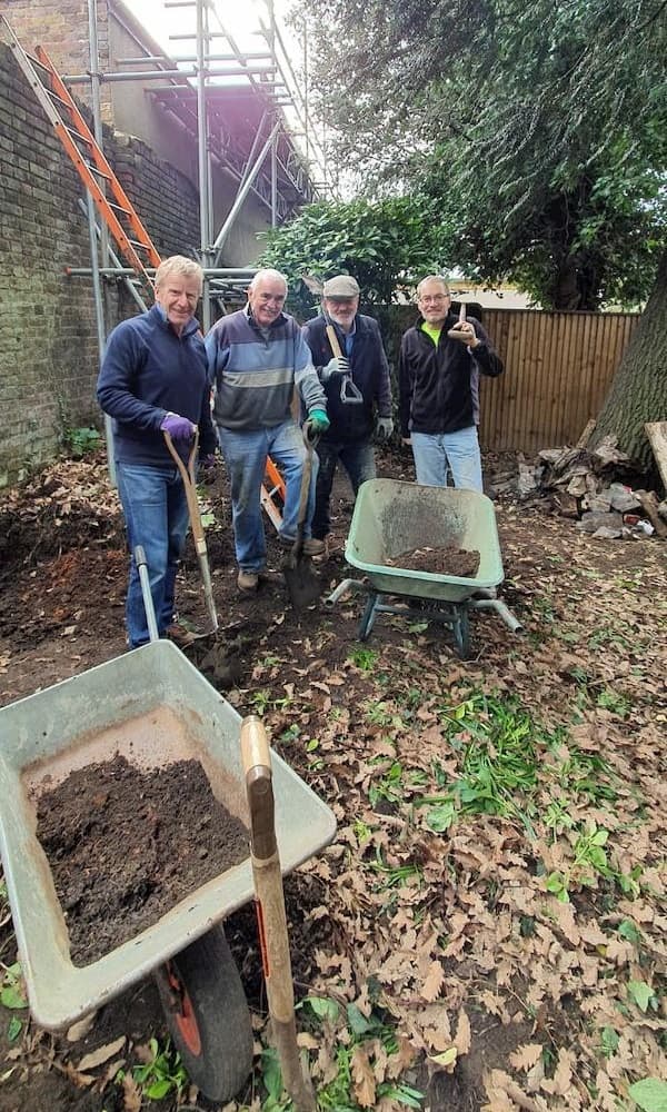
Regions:
<svg viewBox="0 0 667 1112"><path fill-rule="evenodd" d="M104 139L158 250L192 255L199 239L190 182L139 140ZM0 487L58 451L67 426L101 426L99 351L82 187L9 49L0 42ZM135 312L106 287L108 325Z"/></svg>

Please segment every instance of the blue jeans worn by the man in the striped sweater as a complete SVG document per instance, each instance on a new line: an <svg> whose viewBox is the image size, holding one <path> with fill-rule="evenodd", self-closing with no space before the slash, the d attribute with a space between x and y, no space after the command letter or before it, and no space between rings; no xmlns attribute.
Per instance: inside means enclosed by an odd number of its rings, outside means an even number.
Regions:
<svg viewBox="0 0 667 1112"><path fill-rule="evenodd" d="M299 522L301 475L306 445L301 429L292 420L272 428L236 429L218 426L220 449L231 486L231 519L237 563L243 572L261 572L267 562L267 540L261 519L259 492L267 456L280 468L285 479L285 506L280 536L295 540ZM310 536L315 509L317 454L312 453L312 475L308 492L303 536Z"/></svg>

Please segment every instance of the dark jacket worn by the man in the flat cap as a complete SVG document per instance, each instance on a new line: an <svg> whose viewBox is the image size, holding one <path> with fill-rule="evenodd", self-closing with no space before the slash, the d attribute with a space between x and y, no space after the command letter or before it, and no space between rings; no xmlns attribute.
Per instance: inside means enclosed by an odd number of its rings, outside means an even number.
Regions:
<svg viewBox="0 0 667 1112"><path fill-rule="evenodd" d="M332 321L338 336L340 350L345 355L345 334ZM312 361L321 370L332 358L331 345L327 338L327 321L322 316L307 320L303 325L303 336L312 354ZM382 347L380 328L372 317L357 314L352 350L349 357L352 383L361 391L364 401L349 405L340 400L341 376L332 375L325 383L327 395L327 416L331 421L322 440L335 444L359 444L369 441L375 425L374 407L377 406L380 417L391 417L391 385L389 364Z"/></svg>

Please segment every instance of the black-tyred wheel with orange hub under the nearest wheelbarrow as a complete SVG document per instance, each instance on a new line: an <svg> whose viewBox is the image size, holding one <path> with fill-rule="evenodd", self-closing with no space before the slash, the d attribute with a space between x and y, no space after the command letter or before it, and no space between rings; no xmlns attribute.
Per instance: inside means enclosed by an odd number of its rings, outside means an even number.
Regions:
<svg viewBox="0 0 667 1112"><path fill-rule="evenodd" d="M252 1069L252 1027L221 926L156 973L167 1023L190 1080L211 1101L230 1101Z"/></svg>

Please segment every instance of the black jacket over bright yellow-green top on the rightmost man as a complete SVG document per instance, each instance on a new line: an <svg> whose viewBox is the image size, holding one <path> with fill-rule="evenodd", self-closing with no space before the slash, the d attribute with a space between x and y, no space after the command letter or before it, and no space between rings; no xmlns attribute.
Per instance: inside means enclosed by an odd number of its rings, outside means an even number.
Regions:
<svg viewBox="0 0 667 1112"><path fill-rule="evenodd" d="M468 320L479 340L475 350L449 339L447 331L458 321L452 312L442 325L437 347L421 330L421 316L404 335L398 364L401 436L458 433L479 424L479 374L496 378L502 374L502 363L479 321Z"/></svg>

